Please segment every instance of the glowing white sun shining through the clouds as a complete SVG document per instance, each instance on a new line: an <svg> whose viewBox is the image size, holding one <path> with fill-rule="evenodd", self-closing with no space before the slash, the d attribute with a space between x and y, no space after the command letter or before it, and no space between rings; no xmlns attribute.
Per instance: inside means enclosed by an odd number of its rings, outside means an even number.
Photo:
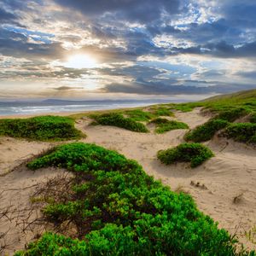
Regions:
<svg viewBox="0 0 256 256"><path fill-rule="evenodd" d="M64 63L64 67L71 68L94 68L97 67L98 63L91 55L72 55L68 58L67 62Z"/></svg>

